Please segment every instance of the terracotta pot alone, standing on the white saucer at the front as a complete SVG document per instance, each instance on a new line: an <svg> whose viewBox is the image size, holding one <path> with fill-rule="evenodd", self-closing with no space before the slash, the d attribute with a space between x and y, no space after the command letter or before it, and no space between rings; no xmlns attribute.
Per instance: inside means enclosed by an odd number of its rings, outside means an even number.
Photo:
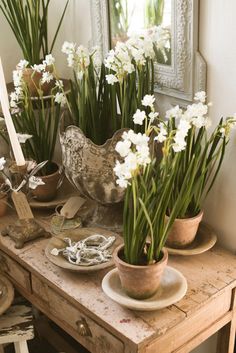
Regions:
<svg viewBox="0 0 236 353"><path fill-rule="evenodd" d="M120 245L113 253L123 289L131 298L150 298L160 285L161 276L168 261L167 250L162 250L163 257L160 261L147 266L130 265L123 261L121 259L123 251L124 245Z"/></svg>

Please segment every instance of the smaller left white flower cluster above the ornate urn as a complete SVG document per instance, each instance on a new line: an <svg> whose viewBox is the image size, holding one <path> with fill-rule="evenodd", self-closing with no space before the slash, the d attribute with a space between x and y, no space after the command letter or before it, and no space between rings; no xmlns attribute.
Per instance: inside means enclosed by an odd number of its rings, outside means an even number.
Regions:
<svg viewBox="0 0 236 353"><path fill-rule="evenodd" d="M95 67L98 66L100 62L100 54L97 47L94 47L90 52L88 48L83 45L79 45L76 48L75 43L64 42L61 51L67 55L68 66L74 69L78 80L83 78L91 61L93 61Z"/></svg>

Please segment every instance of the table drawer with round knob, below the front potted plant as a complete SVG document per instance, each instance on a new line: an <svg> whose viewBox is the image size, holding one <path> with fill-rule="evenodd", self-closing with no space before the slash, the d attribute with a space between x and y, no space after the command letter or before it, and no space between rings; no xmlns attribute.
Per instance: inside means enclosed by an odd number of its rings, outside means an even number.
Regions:
<svg viewBox="0 0 236 353"><path fill-rule="evenodd" d="M73 337L94 353L122 353L123 343L94 320L48 288L50 312L70 327Z"/></svg>

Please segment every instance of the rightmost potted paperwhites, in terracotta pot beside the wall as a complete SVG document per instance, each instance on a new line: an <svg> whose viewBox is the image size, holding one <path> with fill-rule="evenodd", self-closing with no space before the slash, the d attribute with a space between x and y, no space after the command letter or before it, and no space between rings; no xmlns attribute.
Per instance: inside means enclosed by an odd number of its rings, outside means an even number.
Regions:
<svg viewBox="0 0 236 353"><path fill-rule="evenodd" d="M163 122L162 140L173 127L177 129L175 143L168 157L169 163L174 163L176 153L179 154L167 216L171 215L175 208L182 183L186 175L189 175L182 206L168 237L168 246L174 248L185 247L193 242L203 217L204 200L220 171L231 128L236 126L235 117L222 118L215 128L209 131L211 124L207 116L205 92L198 92L194 99L196 103L189 105L185 110L176 106L167 111L167 121Z"/></svg>

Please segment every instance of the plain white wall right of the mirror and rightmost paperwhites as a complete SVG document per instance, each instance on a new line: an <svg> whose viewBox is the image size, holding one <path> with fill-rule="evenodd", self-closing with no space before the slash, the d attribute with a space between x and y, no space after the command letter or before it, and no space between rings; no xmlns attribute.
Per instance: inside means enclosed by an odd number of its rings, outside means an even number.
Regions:
<svg viewBox="0 0 236 353"><path fill-rule="evenodd" d="M236 112L236 1L201 0L200 51L207 61L207 94L211 118ZM205 206L205 219L219 242L236 251L236 133L228 146L222 171Z"/></svg>

